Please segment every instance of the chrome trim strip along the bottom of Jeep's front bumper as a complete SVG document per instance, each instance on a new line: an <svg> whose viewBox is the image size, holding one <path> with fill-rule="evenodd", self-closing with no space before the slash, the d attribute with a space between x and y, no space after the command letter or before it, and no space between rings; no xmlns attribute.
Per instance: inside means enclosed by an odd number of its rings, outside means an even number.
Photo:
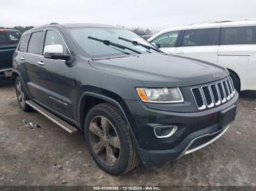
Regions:
<svg viewBox="0 0 256 191"><path fill-rule="evenodd" d="M181 155L180 155L179 157L184 156L184 155L187 155L187 154L189 154L189 153L191 153L191 152L195 152L195 151L197 151L197 150L199 150L199 149L202 149L203 147L206 147L208 144L213 143L214 141L216 141L217 139L219 139L219 137L221 137L221 136L227 131L227 129L228 129L229 127L230 127L230 125L227 125L226 128L223 128L222 130L218 130L217 132L208 133L208 134L205 134L205 135L203 135L203 136L198 136L197 138L193 139L193 140L187 145L186 149L184 149L184 151L181 153ZM219 133L219 132L221 132L221 133ZM203 138L203 137L205 137L205 136L214 136L214 134L217 134L217 133L219 133L219 135L216 136L216 137L214 137L214 139L211 139L210 141L206 142L205 144L200 145L199 147L195 147L195 148L193 148L193 149L189 149L189 147L190 147L195 141L197 141L197 139L201 139L201 138Z"/></svg>

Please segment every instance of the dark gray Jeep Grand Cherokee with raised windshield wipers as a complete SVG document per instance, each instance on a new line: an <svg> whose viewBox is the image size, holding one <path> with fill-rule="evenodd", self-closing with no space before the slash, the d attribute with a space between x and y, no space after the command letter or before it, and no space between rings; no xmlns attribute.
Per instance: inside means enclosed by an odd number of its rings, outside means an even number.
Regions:
<svg viewBox="0 0 256 191"><path fill-rule="evenodd" d="M124 28L56 23L23 34L13 57L18 103L83 130L109 174L175 160L217 140L238 93L211 63L165 55Z"/></svg>

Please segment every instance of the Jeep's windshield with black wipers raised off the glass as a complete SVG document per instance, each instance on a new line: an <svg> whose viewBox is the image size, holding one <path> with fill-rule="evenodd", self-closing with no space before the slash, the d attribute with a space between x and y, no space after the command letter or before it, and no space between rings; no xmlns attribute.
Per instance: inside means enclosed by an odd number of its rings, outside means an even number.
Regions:
<svg viewBox="0 0 256 191"><path fill-rule="evenodd" d="M157 52L150 43L123 28L69 28L69 34L91 58ZM120 37L138 44L124 41Z"/></svg>

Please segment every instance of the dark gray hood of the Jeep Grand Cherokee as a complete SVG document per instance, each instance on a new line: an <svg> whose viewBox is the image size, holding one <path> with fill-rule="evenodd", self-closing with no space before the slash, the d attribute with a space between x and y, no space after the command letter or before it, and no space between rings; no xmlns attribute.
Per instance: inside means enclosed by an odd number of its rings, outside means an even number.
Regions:
<svg viewBox="0 0 256 191"><path fill-rule="evenodd" d="M214 82L228 72L217 65L162 53L90 60L91 66L138 79L146 87L184 87Z"/></svg>

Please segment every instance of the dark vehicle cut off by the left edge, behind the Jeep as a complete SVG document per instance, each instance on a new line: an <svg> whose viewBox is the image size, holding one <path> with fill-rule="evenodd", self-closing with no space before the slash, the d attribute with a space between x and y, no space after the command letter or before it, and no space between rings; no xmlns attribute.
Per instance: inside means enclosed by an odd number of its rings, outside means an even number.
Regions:
<svg viewBox="0 0 256 191"><path fill-rule="evenodd" d="M20 31L0 28L0 79L12 76L12 54L20 36Z"/></svg>

